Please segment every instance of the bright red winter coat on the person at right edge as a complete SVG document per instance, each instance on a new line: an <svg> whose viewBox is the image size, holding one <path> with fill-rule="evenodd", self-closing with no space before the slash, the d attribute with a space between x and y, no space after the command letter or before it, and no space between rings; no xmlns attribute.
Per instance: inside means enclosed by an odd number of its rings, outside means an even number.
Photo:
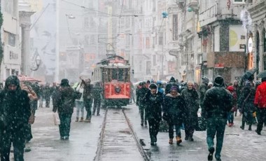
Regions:
<svg viewBox="0 0 266 161"><path fill-rule="evenodd" d="M258 85L255 92L254 104L258 105L258 108L266 108L266 81L262 82L261 85Z"/></svg>

